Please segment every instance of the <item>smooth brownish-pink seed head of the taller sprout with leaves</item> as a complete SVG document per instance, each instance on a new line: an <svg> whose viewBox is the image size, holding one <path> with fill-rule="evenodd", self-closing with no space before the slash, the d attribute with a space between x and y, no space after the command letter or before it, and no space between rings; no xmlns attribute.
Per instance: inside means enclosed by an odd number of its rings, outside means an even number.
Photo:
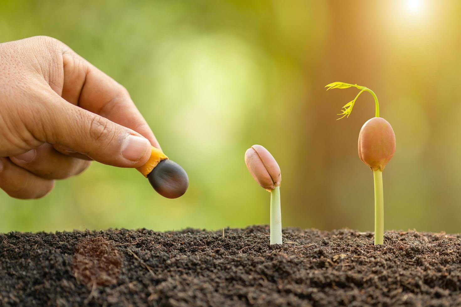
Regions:
<svg viewBox="0 0 461 307"><path fill-rule="evenodd" d="M363 124L359 134L359 157L373 171L383 171L396 152L394 130L382 117L373 117Z"/></svg>

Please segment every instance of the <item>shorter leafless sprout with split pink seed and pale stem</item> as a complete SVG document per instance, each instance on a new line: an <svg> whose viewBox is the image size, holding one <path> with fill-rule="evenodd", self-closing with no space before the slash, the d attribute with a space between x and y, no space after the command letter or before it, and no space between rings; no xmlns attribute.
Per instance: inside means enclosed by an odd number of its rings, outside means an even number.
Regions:
<svg viewBox="0 0 461 307"><path fill-rule="evenodd" d="M266 148L253 145L245 152L245 164L254 180L271 192L271 244L282 244L280 182L282 175L277 161Z"/></svg>

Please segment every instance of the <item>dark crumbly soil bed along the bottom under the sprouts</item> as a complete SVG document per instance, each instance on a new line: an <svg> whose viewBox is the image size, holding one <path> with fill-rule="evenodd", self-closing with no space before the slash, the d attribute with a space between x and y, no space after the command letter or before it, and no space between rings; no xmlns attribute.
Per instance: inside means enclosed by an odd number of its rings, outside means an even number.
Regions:
<svg viewBox="0 0 461 307"><path fill-rule="evenodd" d="M461 235L285 229L0 234L5 306L461 306Z"/></svg>

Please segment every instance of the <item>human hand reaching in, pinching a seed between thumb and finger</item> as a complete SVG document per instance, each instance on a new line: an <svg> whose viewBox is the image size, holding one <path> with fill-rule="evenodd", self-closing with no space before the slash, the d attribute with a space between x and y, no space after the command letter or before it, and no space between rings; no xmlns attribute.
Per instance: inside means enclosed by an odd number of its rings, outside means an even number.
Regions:
<svg viewBox="0 0 461 307"><path fill-rule="evenodd" d="M90 160L137 168L154 133L127 90L46 36L0 44L0 188L39 198Z"/></svg>

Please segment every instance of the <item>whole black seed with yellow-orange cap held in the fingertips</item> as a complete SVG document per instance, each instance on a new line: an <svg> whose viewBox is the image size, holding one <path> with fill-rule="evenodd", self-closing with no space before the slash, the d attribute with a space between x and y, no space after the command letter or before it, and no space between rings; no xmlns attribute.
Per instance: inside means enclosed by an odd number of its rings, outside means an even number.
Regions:
<svg viewBox="0 0 461 307"><path fill-rule="evenodd" d="M137 168L149 180L155 191L166 198L182 196L189 187L186 171L152 146L151 155L142 167Z"/></svg>

